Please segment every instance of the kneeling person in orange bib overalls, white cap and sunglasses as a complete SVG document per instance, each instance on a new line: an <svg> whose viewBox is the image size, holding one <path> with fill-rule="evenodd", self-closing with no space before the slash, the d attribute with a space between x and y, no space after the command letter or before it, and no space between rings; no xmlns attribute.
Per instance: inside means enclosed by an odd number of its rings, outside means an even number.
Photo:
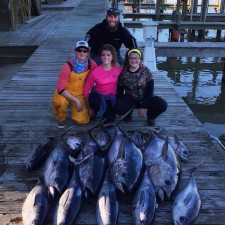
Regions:
<svg viewBox="0 0 225 225"><path fill-rule="evenodd" d="M96 67L96 63L88 59L88 56L88 43L78 41L74 58L67 61L61 68L52 100L58 128L65 127L68 106L71 109L71 118L76 123L86 124L90 121L83 86L89 72Z"/></svg>

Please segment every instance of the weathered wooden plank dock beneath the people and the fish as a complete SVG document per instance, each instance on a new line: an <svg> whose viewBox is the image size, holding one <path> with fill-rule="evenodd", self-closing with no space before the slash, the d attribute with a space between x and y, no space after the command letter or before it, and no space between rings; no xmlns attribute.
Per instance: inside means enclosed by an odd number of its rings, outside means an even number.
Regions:
<svg viewBox="0 0 225 225"><path fill-rule="evenodd" d="M51 105L59 69L73 55L75 41L82 39L90 27L104 18L104 3L103 0L83 0L74 9L46 10L46 16L33 26L22 24L15 32L0 33L0 47L38 46L0 93L1 225L22 225L21 208L26 194L35 185L36 178L43 175L42 169L27 172L25 160L46 137L62 134L63 131L56 127ZM156 72L154 77L156 94L168 102L168 110L157 119L155 128L164 127L164 134L168 136L176 133L190 153L189 162L182 164L179 189L188 179L185 170L204 161L194 174L203 203L195 224L224 225L225 152L210 140L204 126L168 83L166 74ZM66 125L69 128L76 124L68 118ZM93 123L76 126L76 130L86 130L91 125ZM150 129L145 119L136 116L131 123L122 122L121 127L125 130ZM174 197L158 202L154 225L173 224L173 200ZM95 201L95 198L83 201L75 224L97 224ZM120 195L118 224L132 224L131 204L131 195ZM52 211L46 225L52 224Z"/></svg>

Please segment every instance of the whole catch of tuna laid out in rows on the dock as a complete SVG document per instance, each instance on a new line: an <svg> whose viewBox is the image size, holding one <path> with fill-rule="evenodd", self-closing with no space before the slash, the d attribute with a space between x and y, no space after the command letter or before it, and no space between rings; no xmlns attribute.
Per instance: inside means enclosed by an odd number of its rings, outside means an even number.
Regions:
<svg viewBox="0 0 225 225"><path fill-rule="evenodd" d="M101 126L83 133L69 133L49 139L27 158L26 169L38 168L45 161L44 181L28 194L22 208L24 225L43 224L50 198L57 201L53 224L73 224L82 198L97 195L98 224L116 224L119 214L117 190L133 194L133 220L151 224L157 199L170 199L181 176L181 161L189 154L178 137L163 137L153 132L125 132L113 124L113 135ZM93 130L98 127L96 135ZM52 150L53 149L53 150ZM48 155L47 160L45 160ZM175 197L172 215L175 225L187 225L197 218L201 199L190 170L190 179Z"/></svg>

